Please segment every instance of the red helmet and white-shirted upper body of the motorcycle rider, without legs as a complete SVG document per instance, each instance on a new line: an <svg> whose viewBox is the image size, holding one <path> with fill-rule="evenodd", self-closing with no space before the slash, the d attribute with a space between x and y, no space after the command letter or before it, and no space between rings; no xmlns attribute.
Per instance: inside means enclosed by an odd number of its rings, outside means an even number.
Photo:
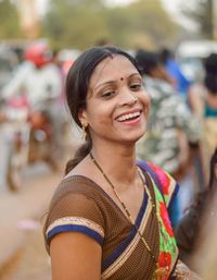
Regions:
<svg viewBox="0 0 217 280"><path fill-rule="evenodd" d="M24 62L12 80L2 89L2 96L22 93L28 98L33 110L48 109L55 104L61 94L61 76L56 66L51 63L51 52L44 40L31 42L24 52Z"/></svg>

